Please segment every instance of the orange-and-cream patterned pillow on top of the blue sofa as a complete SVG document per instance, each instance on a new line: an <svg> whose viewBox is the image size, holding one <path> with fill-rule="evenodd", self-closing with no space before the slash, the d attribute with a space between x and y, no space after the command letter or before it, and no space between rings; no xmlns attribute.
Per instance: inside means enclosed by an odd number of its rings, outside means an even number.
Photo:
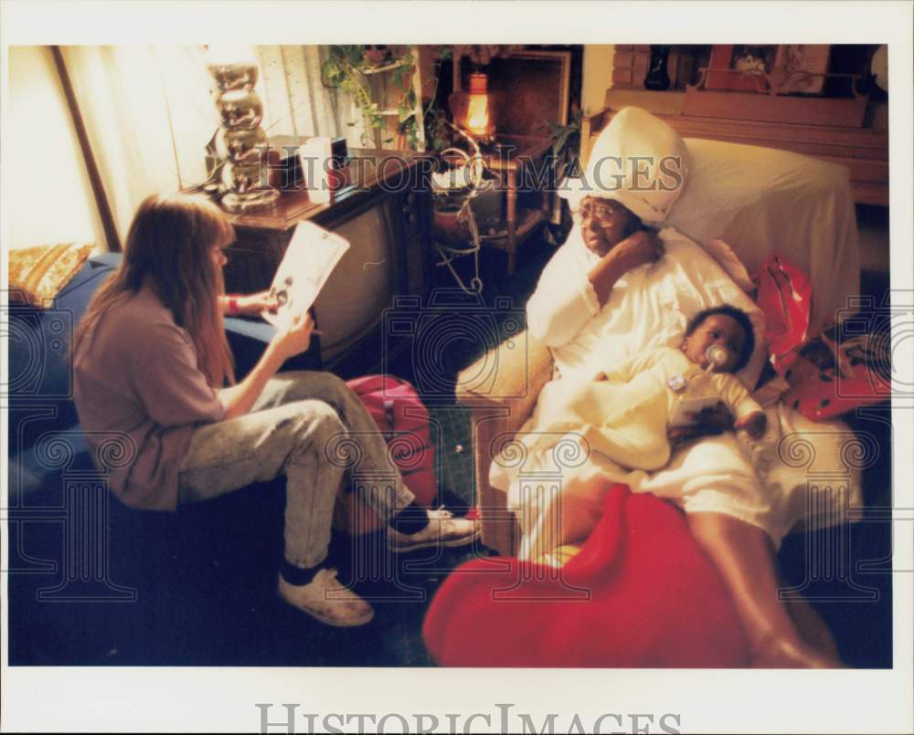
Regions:
<svg viewBox="0 0 914 735"><path fill-rule="evenodd" d="M10 250L10 300L39 309L51 306L94 247L92 243L63 243Z"/></svg>

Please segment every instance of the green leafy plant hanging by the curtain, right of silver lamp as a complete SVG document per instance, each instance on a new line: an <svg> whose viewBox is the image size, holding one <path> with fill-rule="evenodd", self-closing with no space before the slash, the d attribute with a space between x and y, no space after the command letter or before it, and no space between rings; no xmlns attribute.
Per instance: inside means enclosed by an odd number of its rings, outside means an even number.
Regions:
<svg viewBox="0 0 914 735"><path fill-rule="evenodd" d="M321 68L321 82L328 89L342 89L352 95L356 107L362 113L365 130L362 131L363 145L371 143L370 133L386 127L388 113L397 113L397 132L406 140L411 150L419 147L419 122L416 120L416 91L412 87L416 60L407 51L400 56L377 46L331 46L329 57ZM399 96L393 107L382 110L371 97L369 77L385 72L391 75ZM349 125L355 125L350 122ZM392 138L384 142L392 142Z"/></svg>

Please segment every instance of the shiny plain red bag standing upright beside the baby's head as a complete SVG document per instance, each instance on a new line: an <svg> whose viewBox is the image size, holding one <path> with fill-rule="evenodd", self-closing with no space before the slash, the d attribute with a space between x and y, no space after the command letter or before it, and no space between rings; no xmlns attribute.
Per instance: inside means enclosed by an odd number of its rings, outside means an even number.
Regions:
<svg viewBox="0 0 914 735"><path fill-rule="evenodd" d="M790 261L772 254L753 275L756 303L765 315L765 341L771 366L781 375L796 361L809 339L813 286Z"/></svg>

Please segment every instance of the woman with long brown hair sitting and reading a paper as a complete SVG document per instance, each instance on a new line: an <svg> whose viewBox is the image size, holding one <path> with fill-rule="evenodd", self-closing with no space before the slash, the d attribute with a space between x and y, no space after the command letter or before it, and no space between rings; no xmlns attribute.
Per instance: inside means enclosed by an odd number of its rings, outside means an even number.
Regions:
<svg viewBox="0 0 914 735"><path fill-rule="evenodd" d="M310 317L278 330L260 362L231 384L222 267L233 240L227 217L206 199L143 201L120 268L98 290L76 334L80 423L90 444L101 433L122 439L129 461L110 469L109 485L134 508L173 510L284 475L282 599L328 625L363 625L371 606L338 583L327 564L345 472L342 447L356 447L361 468L392 478L364 490L388 523L392 551L460 546L478 529L447 510L416 505L377 426L345 383L329 373L277 374L308 349ZM231 308L259 313L270 306L265 294L255 294Z"/></svg>

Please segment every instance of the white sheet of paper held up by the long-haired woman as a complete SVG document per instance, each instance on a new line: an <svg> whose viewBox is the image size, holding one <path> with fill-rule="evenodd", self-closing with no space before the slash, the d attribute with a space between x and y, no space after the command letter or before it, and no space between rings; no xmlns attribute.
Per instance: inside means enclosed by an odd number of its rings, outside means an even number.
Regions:
<svg viewBox="0 0 914 735"><path fill-rule="evenodd" d="M274 313L264 312L263 318L277 327L288 326L295 316L303 319L348 249L344 237L313 222L303 221L295 226L270 288L279 307Z"/></svg>

